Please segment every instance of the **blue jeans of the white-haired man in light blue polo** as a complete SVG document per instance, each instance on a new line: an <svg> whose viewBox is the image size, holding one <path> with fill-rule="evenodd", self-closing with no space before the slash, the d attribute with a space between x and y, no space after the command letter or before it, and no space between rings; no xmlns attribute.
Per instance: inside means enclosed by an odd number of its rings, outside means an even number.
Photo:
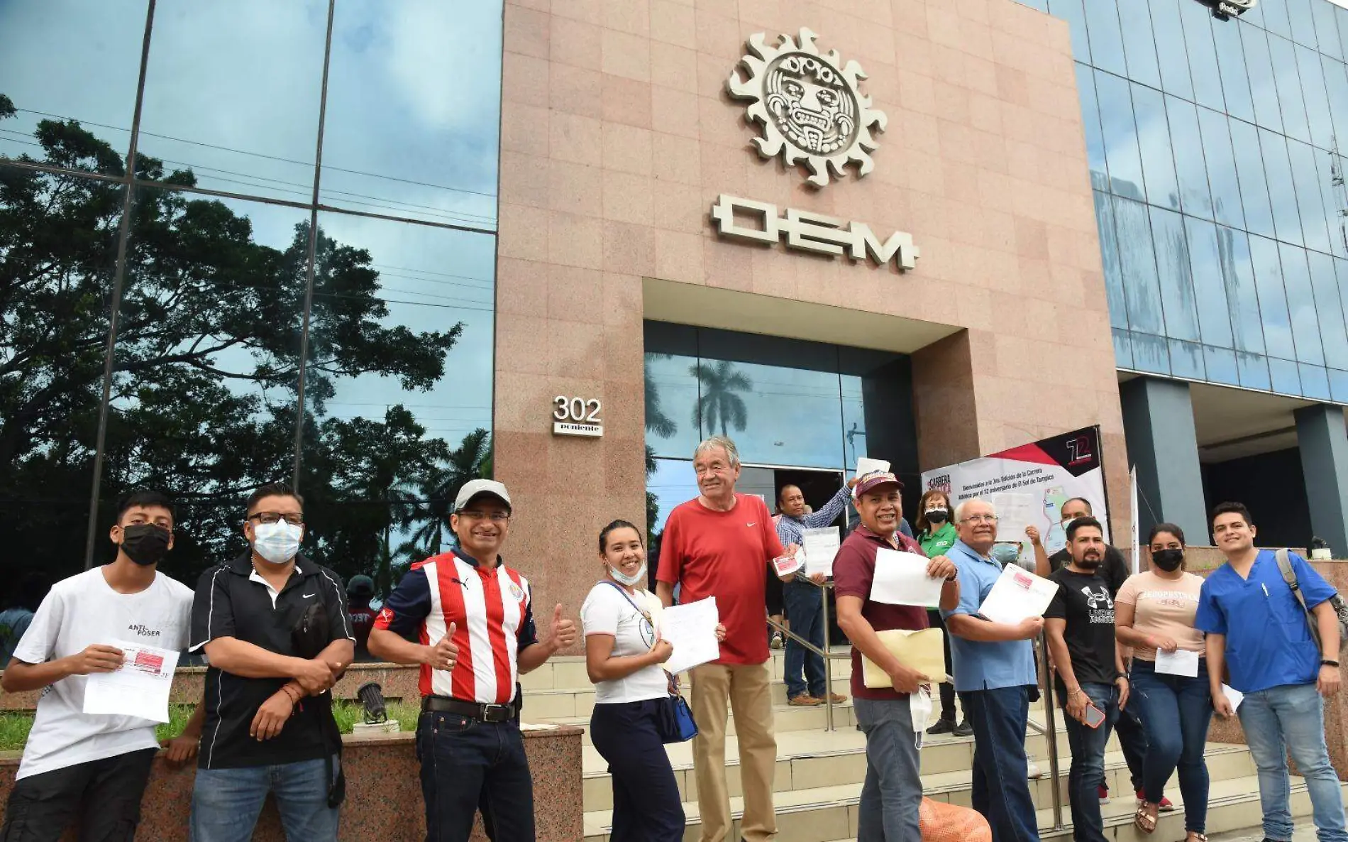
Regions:
<svg viewBox="0 0 1348 842"><path fill-rule="evenodd" d="M992 842L1039 842L1026 780L1024 725L1030 688L999 687L960 694L973 726L973 808L992 826Z"/></svg>

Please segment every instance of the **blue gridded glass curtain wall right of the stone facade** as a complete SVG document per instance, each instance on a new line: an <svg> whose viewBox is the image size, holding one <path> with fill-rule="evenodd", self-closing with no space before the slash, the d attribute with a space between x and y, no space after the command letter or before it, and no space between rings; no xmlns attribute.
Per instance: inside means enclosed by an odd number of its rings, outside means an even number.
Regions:
<svg viewBox="0 0 1348 842"><path fill-rule="evenodd" d="M1064 18L1120 368L1348 403L1348 9Z"/></svg>

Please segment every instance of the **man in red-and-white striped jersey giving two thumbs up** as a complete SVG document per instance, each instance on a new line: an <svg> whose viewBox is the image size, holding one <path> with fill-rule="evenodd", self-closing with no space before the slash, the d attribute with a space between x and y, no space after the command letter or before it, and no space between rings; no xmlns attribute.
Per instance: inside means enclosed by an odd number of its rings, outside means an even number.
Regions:
<svg viewBox="0 0 1348 842"><path fill-rule="evenodd" d="M481 808L495 842L532 842L534 784L519 731L519 676L576 642L553 610L539 642L528 580L506 567L506 486L464 484L450 528L458 548L414 564L375 619L369 652L421 665L417 723L426 839L466 842Z"/></svg>

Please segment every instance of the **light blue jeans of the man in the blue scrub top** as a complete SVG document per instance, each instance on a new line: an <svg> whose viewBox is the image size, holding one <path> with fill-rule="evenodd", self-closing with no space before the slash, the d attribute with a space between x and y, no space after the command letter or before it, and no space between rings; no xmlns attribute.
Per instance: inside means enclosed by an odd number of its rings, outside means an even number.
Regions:
<svg viewBox="0 0 1348 842"><path fill-rule="evenodd" d="M1264 837L1291 839L1287 752L1310 791L1310 815L1320 842L1344 842L1344 803L1325 746L1325 706L1314 684L1283 684L1246 694L1236 711L1259 769Z"/></svg>

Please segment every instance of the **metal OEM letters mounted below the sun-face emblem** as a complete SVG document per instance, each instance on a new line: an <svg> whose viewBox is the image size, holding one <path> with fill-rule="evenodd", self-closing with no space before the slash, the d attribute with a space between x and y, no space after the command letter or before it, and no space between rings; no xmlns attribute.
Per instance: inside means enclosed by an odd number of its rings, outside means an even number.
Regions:
<svg viewBox="0 0 1348 842"><path fill-rule="evenodd" d="M735 215L756 217L756 225L740 224ZM864 260L867 255L879 266L894 260L899 269L917 266L918 247L913 235L895 231L883 243L869 225L849 223L821 213L787 208L778 216L776 205L739 198L721 193L712 205L712 220L724 237L748 240L752 243L776 243L786 236L786 247L799 251L813 251L826 255L847 255L852 260Z"/></svg>

